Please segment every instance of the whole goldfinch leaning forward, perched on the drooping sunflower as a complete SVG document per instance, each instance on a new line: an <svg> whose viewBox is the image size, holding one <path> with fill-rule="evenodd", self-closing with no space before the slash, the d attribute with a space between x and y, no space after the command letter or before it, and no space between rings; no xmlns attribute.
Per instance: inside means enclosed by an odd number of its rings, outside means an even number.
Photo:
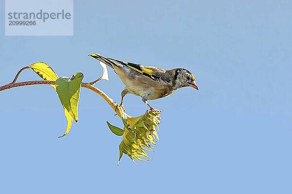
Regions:
<svg viewBox="0 0 292 194"><path fill-rule="evenodd" d="M120 103L122 107L124 97L127 94L142 97L142 101L150 107L150 110L155 110L147 100L167 97L176 90L186 86L191 86L199 90L195 81L195 76L183 68L166 70L154 66L123 62L101 56L98 53L93 53L89 56L113 68L114 72L125 84Z"/></svg>

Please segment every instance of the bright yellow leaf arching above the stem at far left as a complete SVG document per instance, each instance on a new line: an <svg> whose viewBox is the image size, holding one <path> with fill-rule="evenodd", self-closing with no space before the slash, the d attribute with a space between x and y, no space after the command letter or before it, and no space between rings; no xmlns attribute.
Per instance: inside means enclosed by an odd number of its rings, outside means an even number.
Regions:
<svg viewBox="0 0 292 194"><path fill-rule="evenodd" d="M56 81L58 79L55 71L47 64L43 62L38 62L32 65L29 65L29 68L33 69L39 77L44 80ZM55 85L51 85L54 89L56 89Z"/></svg>

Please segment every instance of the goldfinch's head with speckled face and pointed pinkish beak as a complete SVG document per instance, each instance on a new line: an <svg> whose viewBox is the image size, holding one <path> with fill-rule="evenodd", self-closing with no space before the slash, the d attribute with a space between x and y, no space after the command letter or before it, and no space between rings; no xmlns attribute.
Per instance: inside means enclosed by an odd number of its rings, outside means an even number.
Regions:
<svg viewBox="0 0 292 194"><path fill-rule="evenodd" d="M195 76L191 72L183 68L176 69L174 74L174 82L177 88L191 86L199 90Z"/></svg>

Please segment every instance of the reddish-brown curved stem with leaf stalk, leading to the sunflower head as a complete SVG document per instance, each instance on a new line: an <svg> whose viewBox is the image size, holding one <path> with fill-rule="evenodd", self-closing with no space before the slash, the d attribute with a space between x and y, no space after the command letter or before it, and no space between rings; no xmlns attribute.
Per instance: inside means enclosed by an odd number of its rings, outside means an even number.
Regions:
<svg viewBox="0 0 292 194"><path fill-rule="evenodd" d="M25 69L24 67L22 68L22 70ZM19 72L21 72L22 70L20 70ZM18 75L19 75L18 72ZM18 78L18 75L16 76L16 79ZM15 79L15 80L16 80ZM0 86L0 91L3 90L7 90L10 88L14 88L14 87L19 87L19 86L25 86L25 85L39 85L39 84L50 84L50 85L55 85L55 81L46 81L46 80L39 80L39 81L23 81L23 82L12 82L12 83L8 83L6 85ZM99 96L101 96L102 98L104 98L106 100L106 102L110 105L110 107L114 110L114 112L117 113L117 115L119 117L121 117L121 114L116 111L116 107L118 106L117 103L115 103L113 101L113 99L111 99L108 95L106 95L106 93L104 93L103 91L101 91L100 89L94 87L91 83L81 83L81 87L90 89L91 91L95 92L96 94L98 94Z"/></svg>

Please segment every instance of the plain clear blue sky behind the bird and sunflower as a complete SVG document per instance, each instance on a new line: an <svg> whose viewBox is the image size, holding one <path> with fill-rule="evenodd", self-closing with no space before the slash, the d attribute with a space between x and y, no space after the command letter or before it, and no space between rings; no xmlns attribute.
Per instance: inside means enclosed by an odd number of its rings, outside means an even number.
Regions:
<svg viewBox="0 0 292 194"><path fill-rule="evenodd" d="M292 3L280 0L75 0L73 36L4 36L0 9L0 85L23 66L46 62L59 76L102 69L105 56L194 73L183 88L149 101L163 110L153 160L123 156L121 126L105 101L82 89L79 123L66 118L46 85L0 92L0 193L292 193ZM96 86L120 101L122 82ZM27 70L19 80L38 80ZM127 112L145 113L140 97Z"/></svg>

